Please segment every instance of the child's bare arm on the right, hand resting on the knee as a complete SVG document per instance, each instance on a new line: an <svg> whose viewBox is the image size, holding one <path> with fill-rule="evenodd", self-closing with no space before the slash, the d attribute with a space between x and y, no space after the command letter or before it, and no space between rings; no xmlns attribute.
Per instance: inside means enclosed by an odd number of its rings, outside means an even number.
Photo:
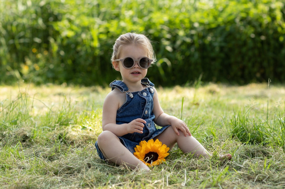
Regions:
<svg viewBox="0 0 285 189"><path fill-rule="evenodd" d="M178 130L181 130L185 136L187 136L187 134L191 136L191 133L184 121L163 112L158 100L158 93L155 88L153 95L153 113L155 115L155 124L162 127L171 125L177 135L179 135Z"/></svg>

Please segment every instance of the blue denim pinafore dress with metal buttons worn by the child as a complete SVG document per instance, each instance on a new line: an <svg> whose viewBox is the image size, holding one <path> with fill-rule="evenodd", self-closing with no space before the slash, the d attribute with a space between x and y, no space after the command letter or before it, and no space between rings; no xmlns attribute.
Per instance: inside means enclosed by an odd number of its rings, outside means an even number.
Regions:
<svg viewBox="0 0 285 189"><path fill-rule="evenodd" d="M147 86L147 88L133 93L129 91L129 88L122 81L115 80L109 85L112 87L112 90L117 88L121 92L126 93L127 97L125 103L117 110L116 124L118 124L118 127L120 127L120 124L129 123L137 118L146 121L142 130L143 133L134 132L119 137L121 143L132 153L135 152L136 145L139 145L142 140L148 141L153 139L170 126L167 125L160 129L155 126L153 121L155 118L155 115L153 114L154 84L151 83L148 78L143 78L141 83ZM99 157L106 160L98 147L97 141L95 146Z"/></svg>

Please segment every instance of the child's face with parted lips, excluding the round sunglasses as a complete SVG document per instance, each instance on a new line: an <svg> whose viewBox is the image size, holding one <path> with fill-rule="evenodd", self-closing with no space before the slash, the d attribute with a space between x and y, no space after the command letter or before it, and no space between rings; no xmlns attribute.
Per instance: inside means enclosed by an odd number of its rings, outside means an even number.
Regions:
<svg viewBox="0 0 285 189"><path fill-rule="evenodd" d="M118 59L123 59L128 56L133 57L135 59L140 59L141 57L148 57L148 54L147 50L144 47L138 45L123 46ZM148 69L141 69L137 61L135 61L135 66L131 69L124 68L121 61L113 61L112 64L115 70L121 72L122 79L124 82L140 81L146 76L148 72Z"/></svg>

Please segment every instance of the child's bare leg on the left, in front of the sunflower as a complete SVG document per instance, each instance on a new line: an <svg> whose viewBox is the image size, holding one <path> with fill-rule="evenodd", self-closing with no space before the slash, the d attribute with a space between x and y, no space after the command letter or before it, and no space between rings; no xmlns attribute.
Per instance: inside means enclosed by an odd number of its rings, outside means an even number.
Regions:
<svg viewBox="0 0 285 189"><path fill-rule="evenodd" d="M150 168L137 159L120 141L120 139L110 131L103 131L98 136L98 146L106 159L117 165L127 165L132 169L142 168L150 171Z"/></svg>

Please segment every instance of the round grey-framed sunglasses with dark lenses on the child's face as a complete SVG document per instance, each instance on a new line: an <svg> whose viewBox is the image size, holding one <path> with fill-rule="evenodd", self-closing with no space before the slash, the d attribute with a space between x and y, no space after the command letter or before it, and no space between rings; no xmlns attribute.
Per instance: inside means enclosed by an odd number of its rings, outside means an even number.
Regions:
<svg viewBox="0 0 285 189"><path fill-rule="evenodd" d="M138 62L138 65L141 69L148 69L150 67L152 59L148 57L141 57L139 59L135 59L134 57L125 57L123 59L116 59L115 61L121 61L122 65L126 69L131 69L135 66L135 61Z"/></svg>

